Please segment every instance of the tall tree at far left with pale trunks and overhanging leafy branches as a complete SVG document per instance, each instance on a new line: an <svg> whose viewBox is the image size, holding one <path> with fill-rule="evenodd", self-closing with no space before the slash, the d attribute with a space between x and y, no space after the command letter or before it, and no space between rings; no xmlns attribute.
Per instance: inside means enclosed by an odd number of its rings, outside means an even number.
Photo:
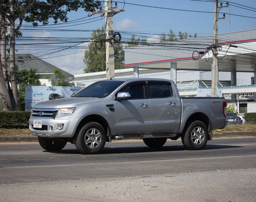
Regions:
<svg viewBox="0 0 256 202"><path fill-rule="evenodd" d="M3 97L5 111L17 110L18 87L15 70L15 37L21 36L20 27L23 21L38 26L49 23L49 18L67 22L67 13L83 8L84 11L93 11L98 8L100 1L93 0L2 0L0 1L0 34L1 34L1 58L0 58L0 94ZM19 19L19 20L18 20ZM18 26L15 28L15 21ZM7 27L10 34L6 36ZM10 78L7 76L6 44L9 42L9 68ZM11 86L10 84L11 83Z"/></svg>

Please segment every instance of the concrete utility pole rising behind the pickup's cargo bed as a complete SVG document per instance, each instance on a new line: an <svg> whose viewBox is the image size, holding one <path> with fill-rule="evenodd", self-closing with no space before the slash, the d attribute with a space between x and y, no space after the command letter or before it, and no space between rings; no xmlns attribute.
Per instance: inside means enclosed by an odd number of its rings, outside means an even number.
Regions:
<svg viewBox="0 0 256 202"><path fill-rule="evenodd" d="M215 0L214 7L214 29L213 29L213 56L212 56L212 97L217 97L218 87L218 0Z"/></svg>

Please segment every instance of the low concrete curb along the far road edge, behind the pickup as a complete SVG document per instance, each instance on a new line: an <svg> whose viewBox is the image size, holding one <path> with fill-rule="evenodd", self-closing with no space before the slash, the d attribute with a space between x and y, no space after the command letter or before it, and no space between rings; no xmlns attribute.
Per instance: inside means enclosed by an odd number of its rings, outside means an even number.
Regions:
<svg viewBox="0 0 256 202"><path fill-rule="evenodd" d="M256 137L256 131L212 133L212 138L218 138L218 137ZM133 139L124 139L124 140L133 140ZM122 140L122 141L124 141L124 140ZM35 136L0 136L0 142L38 142L38 137L35 137Z"/></svg>

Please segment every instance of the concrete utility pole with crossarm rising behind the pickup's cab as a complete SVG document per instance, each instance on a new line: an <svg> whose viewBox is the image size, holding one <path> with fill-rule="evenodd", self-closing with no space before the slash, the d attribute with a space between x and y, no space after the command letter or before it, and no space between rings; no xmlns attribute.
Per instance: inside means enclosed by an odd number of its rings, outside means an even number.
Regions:
<svg viewBox="0 0 256 202"><path fill-rule="evenodd" d="M106 31L106 78L110 79L115 74L115 57L114 57L114 48L112 45L113 42L113 14L125 10L113 10L117 8L117 2L115 2L115 7L112 7L112 0L105 0L105 11L94 11L93 14L105 14L105 31Z"/></svg>

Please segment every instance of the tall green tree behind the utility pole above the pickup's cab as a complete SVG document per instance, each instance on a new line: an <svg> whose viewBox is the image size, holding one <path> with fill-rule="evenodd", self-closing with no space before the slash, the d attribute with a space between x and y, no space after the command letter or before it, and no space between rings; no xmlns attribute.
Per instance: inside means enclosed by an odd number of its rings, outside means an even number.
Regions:
<svg viewBox="0 0 256 202"><path fill-rule="evenodd" d="M97 28L91 34L91 43L89 44L89 50L84 53L84 63L87 68L84 69L85 73L106 71L106 43L105 41L104 27ZM98 43L96 43L98 42ZM102 42L102 47L98 46L99 42ZM115 69L124 68L125 52L122 49L122 43L113 42Z"/></svg>

